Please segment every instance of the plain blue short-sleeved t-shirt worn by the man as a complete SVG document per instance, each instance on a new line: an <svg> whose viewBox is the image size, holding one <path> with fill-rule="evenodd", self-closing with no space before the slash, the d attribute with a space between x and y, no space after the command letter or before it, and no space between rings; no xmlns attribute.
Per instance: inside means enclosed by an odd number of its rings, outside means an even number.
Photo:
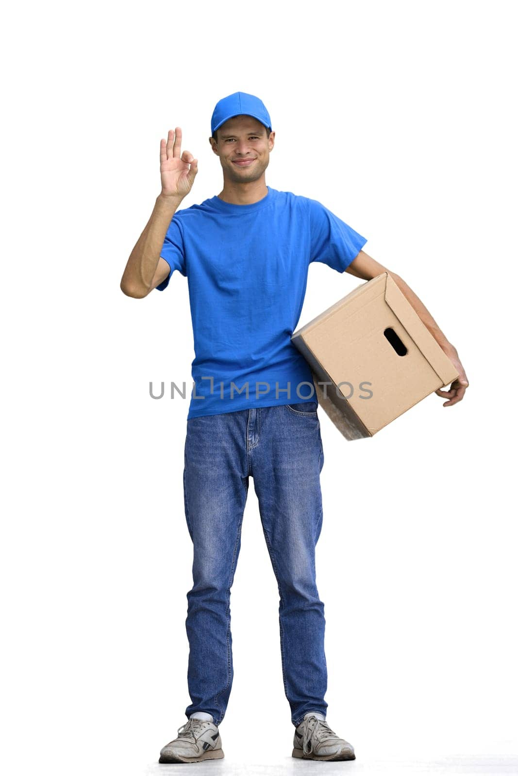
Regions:
<svg viewBox="0 0 518 776"><path fill-rule="evenodd" d="M161 256L187 278L195 359L187 420L318 401L291 342L310 262L337 272L367 242L316 199L268 193L252 205L218 196L177 210ZM298 389L298 390L297 390ZM288 393L289 390L289 393Z"/></svg>

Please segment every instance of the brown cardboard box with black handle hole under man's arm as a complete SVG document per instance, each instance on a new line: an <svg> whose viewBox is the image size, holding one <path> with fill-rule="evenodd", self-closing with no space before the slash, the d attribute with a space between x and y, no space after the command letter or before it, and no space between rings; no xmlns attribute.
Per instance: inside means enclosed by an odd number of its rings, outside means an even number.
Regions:
<svg viewBox="0 0 518 776"><path fill-rule="evenodd" d="M311 368L319 404L348 440L374 436L459 376L388 272L358 286L291 341Z"/></svg>

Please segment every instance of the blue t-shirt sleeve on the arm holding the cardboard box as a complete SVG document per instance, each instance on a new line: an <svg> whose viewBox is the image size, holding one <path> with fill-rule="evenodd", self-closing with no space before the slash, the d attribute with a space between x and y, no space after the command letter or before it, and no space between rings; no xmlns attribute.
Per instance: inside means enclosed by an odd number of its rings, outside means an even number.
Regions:
<svg viewBox="0 0 518 776"><path fill-rule="evenodd" d="M336 272L345 272L367 242L367 237L362 237L316 199L308 199L308 218L311 231L310 263L322 262Z"/></svg>

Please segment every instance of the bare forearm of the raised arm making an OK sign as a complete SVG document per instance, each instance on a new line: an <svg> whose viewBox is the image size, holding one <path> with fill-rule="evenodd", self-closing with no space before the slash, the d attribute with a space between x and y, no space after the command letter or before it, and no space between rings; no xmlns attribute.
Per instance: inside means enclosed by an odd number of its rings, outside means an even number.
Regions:
<svg viewBox="0 0 518 776"><path fill-rule="evenodd" d="M172 217L182 199L159 194L151 217L130 253L120 288L127 296L146 296L155 276L160 251Z"/></svg>

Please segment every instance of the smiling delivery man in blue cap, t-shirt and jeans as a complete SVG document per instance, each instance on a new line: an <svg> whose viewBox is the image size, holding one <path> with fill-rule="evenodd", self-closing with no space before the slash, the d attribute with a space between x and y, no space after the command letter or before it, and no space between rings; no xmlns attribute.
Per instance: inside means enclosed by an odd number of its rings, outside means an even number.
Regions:
<svg viewBox="0 0 518 776"><path fill-rule="evenodd" d="M211 133L221 193L179 210L198 161L181 153L181 128L170 130L160 144L162 192L120 283L123 293L142 298L163 291L175 270L186 276L196 354L183 472L194 548L186 619L191 704L159 762L224 756L218 726L233 679L230 591L250 476L279 587L292 755L353 760L353 746L325 720L325 617L315 583L324 453L311 371L290 336L310 262L365 280L386 268L361 250L366 238L321 203L266 185L275 133L261 100L245 92L221 99ZM456 404L468 386L456 349L405 282L391 276L457 366L450 390L436 391L447 397L443 406Z"/></svg>

